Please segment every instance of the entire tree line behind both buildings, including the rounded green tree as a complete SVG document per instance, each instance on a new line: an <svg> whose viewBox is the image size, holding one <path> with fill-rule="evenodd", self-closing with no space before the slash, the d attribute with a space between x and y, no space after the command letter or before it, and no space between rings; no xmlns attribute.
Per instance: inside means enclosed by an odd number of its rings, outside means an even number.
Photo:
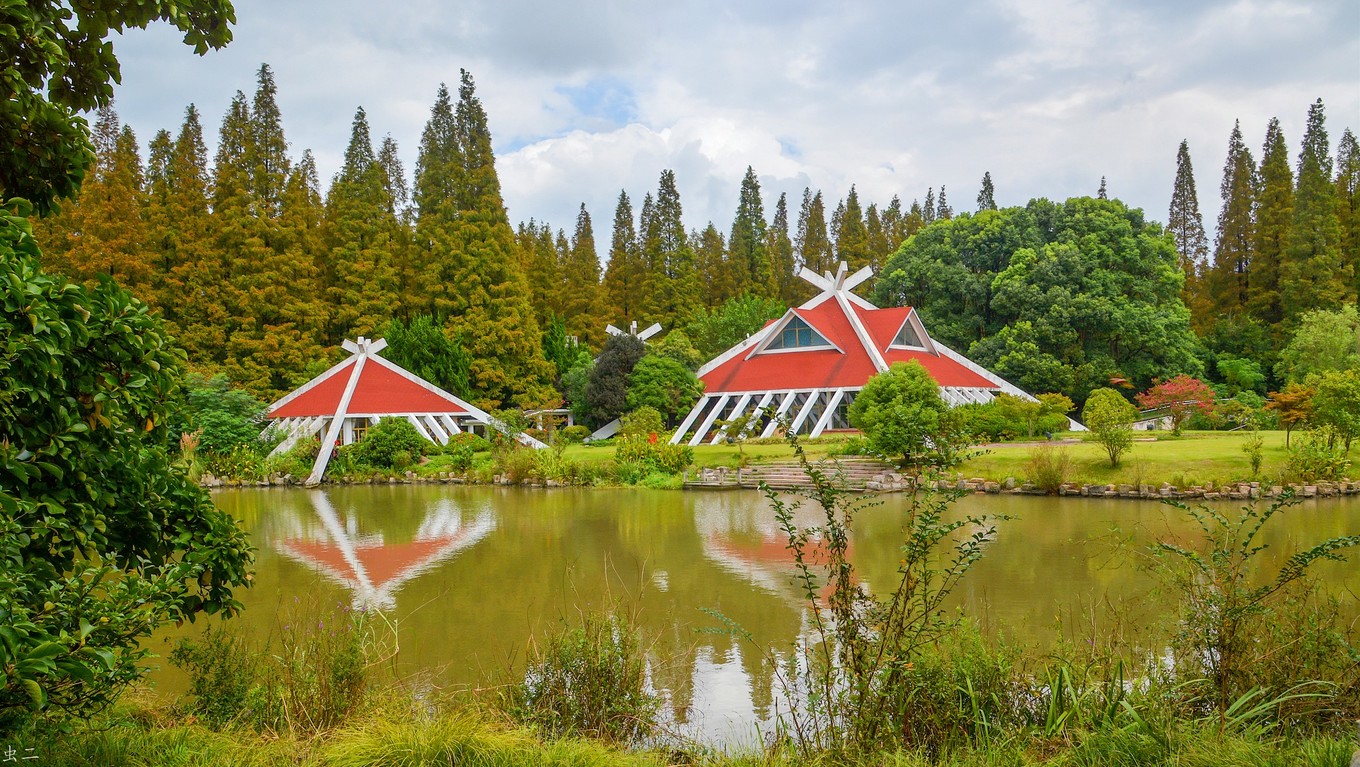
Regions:
<svg viewBox="0 0 1360 767"><path fill-rule="evenodd" d="M570 234L511 227L466 72L456 95L437 91L409 184L360 107L322 192L310 151L288 155L268 65L252 99L233 99L211 165L192 105L144 163L112 106L94 139L80 194L37 223L48 267L128 286L194 367L264 398L324 370L345 337L385 335L438 350L424 369L479 405L551 405L573 344L597 354L607 324L684 329L707 356L809 298L800 268L838 261L872 265L866 295L917 306L941 341L1031 390L1081 403L1110 381L1246 366L1263 393L1303 316L1353 302L1360 283L1360 155L1346 129L1333 162L1321 101L1293 169L1278 120L1259 165L1234 128L1212 252L1186 144L1166 227L1110 200L1104 178L1095 197L998 209L990 173L976 212L955 215L944 186L881 208L854 186L834 205L809 188L767 211L748 167L730 227L687 231L664 170L636 207L620 190L605 242L583 204Z"/></svg>

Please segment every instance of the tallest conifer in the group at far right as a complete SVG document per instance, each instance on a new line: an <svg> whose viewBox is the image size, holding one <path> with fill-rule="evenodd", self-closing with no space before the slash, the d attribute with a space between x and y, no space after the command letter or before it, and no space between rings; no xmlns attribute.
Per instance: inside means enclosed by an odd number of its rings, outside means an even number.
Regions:
<svg viewBox="0 0 1360 767"><path fill-rule="evenodd" d="M1322 99L1308 107L1308 125L1293 193L1293 219L1280 264L1280 307L1292 326L1314 309L1355 301L1352 265L1341 253L1337 190L1331 178Z"/></svg>

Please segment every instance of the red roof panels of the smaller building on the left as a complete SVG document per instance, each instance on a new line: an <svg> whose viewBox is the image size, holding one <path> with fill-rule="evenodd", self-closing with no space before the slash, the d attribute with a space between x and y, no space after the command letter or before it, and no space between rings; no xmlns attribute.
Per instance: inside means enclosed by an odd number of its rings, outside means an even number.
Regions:
<svg viewBox="0 0 1360 767"><path fill-rule="evenodd" d="M356 360L332 367L269 408L269 417L330 416L340 407ZM348 415L471 413L466 403L393 362L369 355L350 397Z"/></svg>

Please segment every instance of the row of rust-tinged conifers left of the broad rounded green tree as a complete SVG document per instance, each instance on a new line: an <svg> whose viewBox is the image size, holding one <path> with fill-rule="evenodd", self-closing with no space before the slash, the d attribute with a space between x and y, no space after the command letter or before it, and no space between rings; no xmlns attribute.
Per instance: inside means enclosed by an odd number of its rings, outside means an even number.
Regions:
<svg viewBox="0 0 1360 767"><path fill-rule="evenodd" d="M268 65L253 98L237 92L209 163L190 105L143 160L113 105L97 113L95 159L80 193L35 222L45 264L79 280L112 277L156 307L203 373L226 373L269 398L324 370L345 337L390 322L432 324L466 370L457 392L484 407L556 396L544 335L559 318L598 351L613 322L666 329L745 294L783 305L809 295L797 268L881 264L899 242L952 209L862 207L854 188L828 205L805 190L796 222L781 194L767 218L748 169L730 231L685 231L675 173L634 211L620 192L601 268L585 205L571 235L547 222L511 228L472 76L441 86L415 173L396 141L354 117L340 171L322 190L310 150L290 156Z"/></svg>

